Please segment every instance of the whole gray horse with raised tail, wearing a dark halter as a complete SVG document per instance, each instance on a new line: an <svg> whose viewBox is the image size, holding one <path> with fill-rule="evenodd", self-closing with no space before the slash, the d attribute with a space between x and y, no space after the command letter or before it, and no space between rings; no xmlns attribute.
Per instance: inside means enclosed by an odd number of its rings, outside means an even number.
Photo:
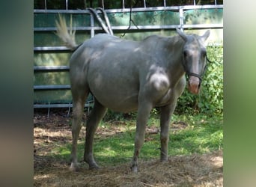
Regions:
<svg viewBox="0 0 256 187"><path fill-rule="evenodd" d="M57 23L58 36L73 49L70 58L70 83L73 96L73 125L71 166L77 162L77 140L85 100L94 95L94 108L86 124L84 161L89 168L98 168L93 155L94 132L106 114L113 111L138 111L135 132L135 149L131 169L138 171L138 155L144 143L147 119L154 107L159 107L162 162L168 159L169 125L177 98L186 86L198 93L201 76L206 67L204 41L210 35L187 35L177 29L178 36L146 37L141 41L122 40L109 34L97 34L78 46L74 32L68 32L64 19Z"/></svg>

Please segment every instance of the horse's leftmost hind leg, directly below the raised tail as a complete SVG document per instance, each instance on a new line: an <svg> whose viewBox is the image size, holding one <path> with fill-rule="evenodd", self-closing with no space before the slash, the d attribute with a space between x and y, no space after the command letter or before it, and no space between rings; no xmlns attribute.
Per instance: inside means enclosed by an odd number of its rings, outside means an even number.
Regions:
<svg viewBox="0 0 256 187"><path fill-rule="evenodd" d="M77 171L79 164L77 162L77 141L79 132L82 127L82 115L84 113L85 99L88 96L88 91L85 88L71 88L73 96L73 121L72 121L72 149L71 149L71 165L70 170Z"/></svg>

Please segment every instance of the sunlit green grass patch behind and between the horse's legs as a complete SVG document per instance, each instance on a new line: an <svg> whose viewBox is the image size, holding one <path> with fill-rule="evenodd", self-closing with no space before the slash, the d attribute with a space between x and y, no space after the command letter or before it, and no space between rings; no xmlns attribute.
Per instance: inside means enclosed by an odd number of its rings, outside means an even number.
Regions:
<svg viewBox="0 0 256 187"><path fill-rule="evenodd" d="M183 122L186 128L172 129L168 144L168 155L190 155L209 153L223 148L223 117L205 115L174 115L172 122ZM158 128L159 119L150 117L147 128ZM100 165L118 165L130 162L133 156L135 120L122 120L120 123L102 122L94 137L94 157ZM160 135L146 133L141 148L140 159L158 159ZM78 156L82 160L85 138L79 141ZM55 156L70 159L71 142L52 150Z"/></svg>

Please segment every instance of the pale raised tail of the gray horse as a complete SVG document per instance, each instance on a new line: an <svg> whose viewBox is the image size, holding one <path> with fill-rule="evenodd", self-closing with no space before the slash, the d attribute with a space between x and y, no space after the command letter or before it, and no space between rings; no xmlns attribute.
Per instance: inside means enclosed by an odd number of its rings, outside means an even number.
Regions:
<svg viewBox="0 0 256 187"><path fill-rule="evenodd" d="M58 15L59 22L55 20L57 27L57 35L61 38L61 40L66 43L67 47L74 50L78 46L75 40L76 30L72 31L72 16L70 17L70 29L67 28L66 20L61 15ZM68 31L70 30L70 31Z"/></svg>

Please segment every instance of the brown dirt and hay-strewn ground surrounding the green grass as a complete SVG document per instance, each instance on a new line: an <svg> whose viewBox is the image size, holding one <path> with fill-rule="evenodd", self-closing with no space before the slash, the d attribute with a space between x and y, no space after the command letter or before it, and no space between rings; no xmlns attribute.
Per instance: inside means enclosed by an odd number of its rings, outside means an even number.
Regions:
<svg viewBox="0 0 256 187"><path fill-rule="evenodd" d="M129 171L129 163L102 166L100 170L88 170L88 165L82 163L81 171L70 171L69 162L48 156L52 147L71 142L70 119L64 110L51 111L49 117L47 111L34 111L34 186L223 186L222 150L205 155L170 156L165 163L159 159L140 160L138 174ZM172 129L184 126L171 124ZM97 133L113 132L118 129L100 129ZM154 132L155 129L147 129L147 133ZM81 133L85 134L84 127Z"/></svg>

